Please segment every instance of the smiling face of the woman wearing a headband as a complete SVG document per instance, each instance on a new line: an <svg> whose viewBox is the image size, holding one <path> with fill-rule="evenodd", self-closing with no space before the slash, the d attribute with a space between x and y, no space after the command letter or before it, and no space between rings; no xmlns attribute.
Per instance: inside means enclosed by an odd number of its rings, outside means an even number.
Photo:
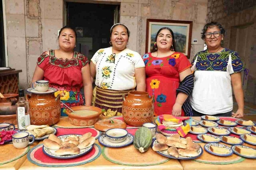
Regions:
<svg viewBox="0 0 256 170"><path fill-rule="evenodd" d="M128 32L126 28L122 25L117 25L113 28L110 40L112 42L113 50L123 51L126 49L128 42Z"/></svg>

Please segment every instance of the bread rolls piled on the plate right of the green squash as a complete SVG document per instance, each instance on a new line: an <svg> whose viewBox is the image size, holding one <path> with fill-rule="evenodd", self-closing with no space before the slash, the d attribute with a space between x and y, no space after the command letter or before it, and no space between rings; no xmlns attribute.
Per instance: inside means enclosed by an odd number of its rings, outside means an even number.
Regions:
<svg viewBox="0 0 256 170"><path fill-rule="evenodd" d="M153 146L154 151L164 151L167 150L169 155L173 157L196 157L198 155L197 150L200 149L198 143L193 143L191 137L186 139L180 138L180 135L172 135L170 137L165 137L162 134L156 134L157 142Z"/></svg>

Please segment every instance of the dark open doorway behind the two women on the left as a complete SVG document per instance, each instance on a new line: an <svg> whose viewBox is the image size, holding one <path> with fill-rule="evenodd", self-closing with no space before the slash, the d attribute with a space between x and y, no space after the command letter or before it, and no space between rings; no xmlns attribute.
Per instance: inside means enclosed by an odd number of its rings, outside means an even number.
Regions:
<svg viewBox="0 0 256 170"><path fill-rule="evenodd" d="M75 51L83 53L90 61L99 49L110 46L110 27L119 22L120 3L65 1L64 5L65 24L75 28L78 35Z"/></svg>

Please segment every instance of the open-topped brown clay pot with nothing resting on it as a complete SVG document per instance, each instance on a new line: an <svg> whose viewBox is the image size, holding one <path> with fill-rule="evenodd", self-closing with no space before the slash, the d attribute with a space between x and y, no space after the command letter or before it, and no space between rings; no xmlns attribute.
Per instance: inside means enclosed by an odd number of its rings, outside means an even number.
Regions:
<svg viewBox="0 0 256 170"><path fill-rule="evenodd" d="M149 98L147 92L132 91L123 96L122 113L125 123L131 126L142 126L143 123L153 121L153 96Z"/></svg>

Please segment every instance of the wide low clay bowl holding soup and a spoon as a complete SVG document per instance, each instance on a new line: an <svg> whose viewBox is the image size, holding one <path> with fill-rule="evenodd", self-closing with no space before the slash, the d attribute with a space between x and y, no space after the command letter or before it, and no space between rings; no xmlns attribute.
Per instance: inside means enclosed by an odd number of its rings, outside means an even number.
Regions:
<svg viewBox="0 0 256 170"><path fill-rule="evenodd" d="M73 111L80 111L80 110L90 110L96 111L94 115L88 116L81 116L72 114L70 109L67 109L67 115L69 117L69 123L74 124L76 126L91 126L94 125L99 119L99 115L101 115L102 111L101 108L94 107L94 106L75 106L71 107Z"/></svg>

